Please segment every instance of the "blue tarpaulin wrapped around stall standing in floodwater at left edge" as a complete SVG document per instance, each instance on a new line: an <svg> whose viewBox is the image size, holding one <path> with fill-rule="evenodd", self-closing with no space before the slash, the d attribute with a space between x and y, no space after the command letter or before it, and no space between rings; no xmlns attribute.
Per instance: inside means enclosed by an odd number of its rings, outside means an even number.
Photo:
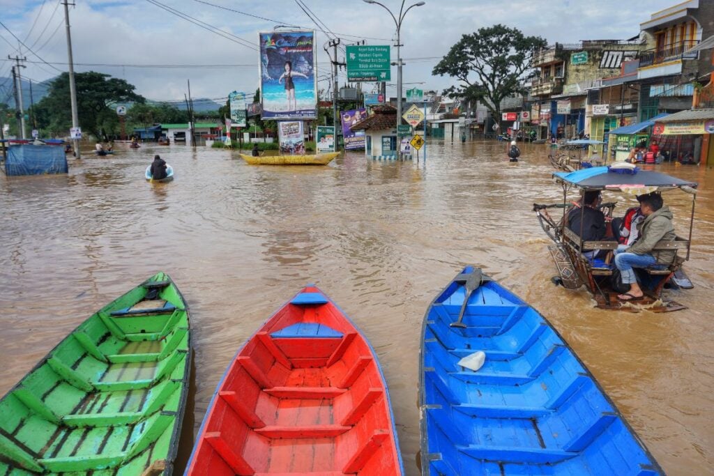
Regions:
<svg viewBox="0 0 714 476"><path fill-rule="evenodd" d="M64 148L57 146L10 146L7 150L5 173L8 176L67 173Z"/></svg>

